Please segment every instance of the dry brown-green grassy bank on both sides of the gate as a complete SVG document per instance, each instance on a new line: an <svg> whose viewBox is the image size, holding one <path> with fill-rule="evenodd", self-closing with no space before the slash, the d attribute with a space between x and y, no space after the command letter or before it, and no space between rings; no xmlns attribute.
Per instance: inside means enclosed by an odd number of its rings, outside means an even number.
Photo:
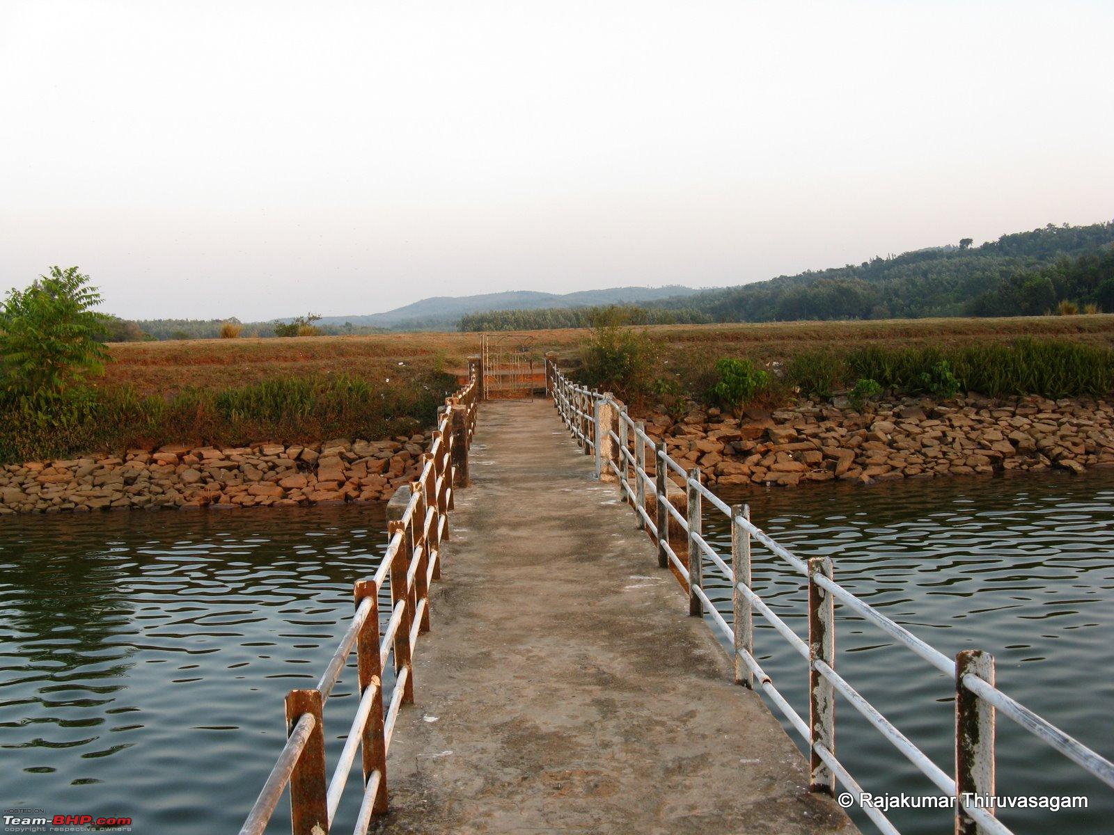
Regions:
<svg viewBox="0 0 1114 835"><path fill-rule="evenodd" d="M792 397L797 389L804 394L850 389L861 377L916 391L940 360L965 391L986 394L1101 395L1114 383L1114 315L665 325L636 332L654 344L647 396L677 407L687 397L707 400L721 357L750 358L769 370L771 385L762 397L770 404ZM539 361L545 351L579 361L590 332L531 336ZM164 443L384 438L431 423L437 403L455 387L449 373L462 371L479 344L479 334L468 333L114 344L105 375L71 407L50 415L0 414L6 428L0 462Z"/></svg>

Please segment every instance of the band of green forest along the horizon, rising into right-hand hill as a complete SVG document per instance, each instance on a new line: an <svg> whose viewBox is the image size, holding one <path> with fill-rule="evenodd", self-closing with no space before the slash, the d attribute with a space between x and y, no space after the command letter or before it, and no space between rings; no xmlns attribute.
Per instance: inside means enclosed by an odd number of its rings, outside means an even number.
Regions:
<svg viewBox="0 0 1114 835"><path fill-rule="evenodd" d="M1003 235L981 246L956 245L876 257L859 265L696 294L618 305L633 324L794 322L924 318L929 316L1032 316L1046 313L1114 313L1114 223L1048 225ZM697 276L698 278L698 276ZM393 322L389 328L316 324L322 335L391 331L530 331L585 327L600 306L543 307L448 314ZM333 321L335 322L335 321ZM275 322L146 320L120 323L110 337L127 341L215 338L233 323L240 336L274 336Z"/></svg>

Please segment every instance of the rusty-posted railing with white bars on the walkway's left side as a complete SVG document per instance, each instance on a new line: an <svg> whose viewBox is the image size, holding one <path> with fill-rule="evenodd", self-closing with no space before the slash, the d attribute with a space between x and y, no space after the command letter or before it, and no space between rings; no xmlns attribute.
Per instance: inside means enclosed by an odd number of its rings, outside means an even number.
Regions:
<svg viewBox="0 0 1114 835"><path fill-rule="evenodd" d="M261 835L290 786L293 835L328 835L349 774L361 753L363 796L354 833L364 835L374 815L387 812L387 755L399 710L413 701L414 645L429 631L429 586L440 577L441 542L449 537L453 492L468 484L468 448L476 430L478 385L469 382L446 401L410 501L389 523L389 544L379 568L354 588L355 613L332 660L313 689L286 696L286 744L241 828ZM389 509L390 513L390 509ZM379 592L388 587L391 615L379 629ZM331 778L325 769L323 711L353 648L360 701ZM394 666L394 686L384 710L383 669ZM328 782L326 782L328 780Z"/></svg>

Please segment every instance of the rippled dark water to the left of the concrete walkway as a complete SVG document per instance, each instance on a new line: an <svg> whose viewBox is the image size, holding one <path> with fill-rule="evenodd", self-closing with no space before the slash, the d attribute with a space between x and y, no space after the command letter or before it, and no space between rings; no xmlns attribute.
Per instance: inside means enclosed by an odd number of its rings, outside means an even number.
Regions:
<svg viewBox="0 0 1114 835"><path fill-rule="evenodd" d="M383 519L379 504L6 519L4 808L236 832L282 747L283 697L332 656ZM353 678L329 703L332 745Z"/></svg>

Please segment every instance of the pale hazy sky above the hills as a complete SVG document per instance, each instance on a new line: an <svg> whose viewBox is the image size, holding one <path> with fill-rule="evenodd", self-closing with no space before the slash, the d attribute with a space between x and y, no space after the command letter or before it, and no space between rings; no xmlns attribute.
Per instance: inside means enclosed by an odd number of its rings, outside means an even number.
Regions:
<svg viewBox="0 0 1114 835"><path fill-rule="evenodd" d="M0 0L0 291L740 284L1114 217L1114 2Z"/></svg>

